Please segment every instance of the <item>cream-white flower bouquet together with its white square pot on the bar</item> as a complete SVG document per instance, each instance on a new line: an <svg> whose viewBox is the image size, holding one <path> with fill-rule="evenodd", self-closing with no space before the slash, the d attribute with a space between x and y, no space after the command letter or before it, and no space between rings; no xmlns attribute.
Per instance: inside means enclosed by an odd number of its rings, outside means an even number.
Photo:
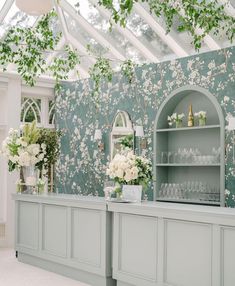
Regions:
<svg viewBox="0 0 235 286"><path fill-rule="evenodd" d="M123 199L140 202L142 189L152 178L151 161L133 154L133 151L123 151L109 163L107 175L122 185ZM117 194L120 195L120 188Z"/></svg>

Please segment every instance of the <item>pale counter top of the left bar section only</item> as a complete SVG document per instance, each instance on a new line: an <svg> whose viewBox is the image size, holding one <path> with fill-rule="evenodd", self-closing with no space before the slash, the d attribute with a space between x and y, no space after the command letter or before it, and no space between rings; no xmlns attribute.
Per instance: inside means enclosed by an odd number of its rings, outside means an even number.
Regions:
<svg viewBox="0 0 235 286"><path fill-rule="evenodd" d="M15 201L107 210L107 203L102 197L49 193L42 195L13 194L12 198Z"/></svg>

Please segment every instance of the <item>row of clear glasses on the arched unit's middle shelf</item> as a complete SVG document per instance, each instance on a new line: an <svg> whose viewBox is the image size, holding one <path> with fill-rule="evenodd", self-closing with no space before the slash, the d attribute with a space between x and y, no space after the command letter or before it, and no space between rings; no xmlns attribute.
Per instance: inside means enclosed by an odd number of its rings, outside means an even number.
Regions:
<svg viewBox="0 0 235 286"><path fill-rule="evenodd" d="M220 148L212 148L211 155L202 155L198 148L179 148L178 151L162 152L162 164L193 163L216 164L220 162Z"/></svg>

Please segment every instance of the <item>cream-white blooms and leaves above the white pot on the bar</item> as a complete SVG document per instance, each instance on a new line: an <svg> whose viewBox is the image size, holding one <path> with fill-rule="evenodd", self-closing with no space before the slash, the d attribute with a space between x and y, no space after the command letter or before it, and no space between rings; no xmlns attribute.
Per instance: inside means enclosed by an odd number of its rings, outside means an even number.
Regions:
<svg viewBox="0 0 235 286"><path fill-rule="evenodd" d="M106 173L119 184L147 185L152 178L152 165L145 157L128 151L116 154Z"/></svg>

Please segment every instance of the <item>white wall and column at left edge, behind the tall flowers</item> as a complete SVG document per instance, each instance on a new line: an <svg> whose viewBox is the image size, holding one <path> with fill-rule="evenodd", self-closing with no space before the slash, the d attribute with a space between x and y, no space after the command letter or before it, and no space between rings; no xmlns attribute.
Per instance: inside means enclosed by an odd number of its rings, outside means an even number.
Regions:
<svg viewBox="0 0 235 286"><path fill-rule="evenodd" d="M10 128L19 129L22 95L53 97L53 82L40 81L36 87L22 85L18 76L0 74L0 145ZM1 147L0 147L1 148ZM5 237L0 237L0 247L14 245L14 204L11 198L16 192L15 182L19 173L7 171L7 161L0 156L0 227L5 226ZM1 232L1 229L0 229Z"/></svg>

